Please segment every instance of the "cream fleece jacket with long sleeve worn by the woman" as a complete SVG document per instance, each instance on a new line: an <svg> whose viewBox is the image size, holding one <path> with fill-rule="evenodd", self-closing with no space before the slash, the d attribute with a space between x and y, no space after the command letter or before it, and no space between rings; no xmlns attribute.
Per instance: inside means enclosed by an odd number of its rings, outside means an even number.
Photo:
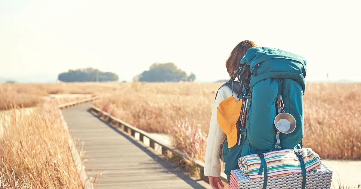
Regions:
<svg viewBox="0 0 361 189"><path fill-rule="evenodd" d="M216 101L213 105L212 116L210 118L206 153L205 153L205 167L204 167L204 176L221 176L221 159L219 158L220 153L220 145L222 140L226 137L226 134L219 127L217 121L217 107L219 103L230 97L232 95L232 90L223 86L218 90L218 94L216 96ZM237 98L237 94L233 93L234 98Z"/></svg>

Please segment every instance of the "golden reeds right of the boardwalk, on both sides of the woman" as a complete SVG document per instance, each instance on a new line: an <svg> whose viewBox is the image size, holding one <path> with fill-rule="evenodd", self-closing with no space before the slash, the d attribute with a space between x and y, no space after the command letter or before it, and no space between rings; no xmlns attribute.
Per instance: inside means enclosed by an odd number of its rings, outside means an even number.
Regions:
<svg viewBox="0 0 361 189"><path fill-rule="evenodd" d="M214 96L221 83L126 83L95 105L204 160ZM307 83L304 146L324 159L361 159L361 84Z"/></svg>

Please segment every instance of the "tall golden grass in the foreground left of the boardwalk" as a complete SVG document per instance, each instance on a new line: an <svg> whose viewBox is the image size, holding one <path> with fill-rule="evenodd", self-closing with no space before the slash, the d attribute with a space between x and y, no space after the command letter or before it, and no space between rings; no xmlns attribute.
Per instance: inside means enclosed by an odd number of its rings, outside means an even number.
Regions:
<svg viewBox="0 0 361 189"><path fill-rule="evenodd" d="M0 188L82 188L56 104L0 113L0 131Z"/></svg>

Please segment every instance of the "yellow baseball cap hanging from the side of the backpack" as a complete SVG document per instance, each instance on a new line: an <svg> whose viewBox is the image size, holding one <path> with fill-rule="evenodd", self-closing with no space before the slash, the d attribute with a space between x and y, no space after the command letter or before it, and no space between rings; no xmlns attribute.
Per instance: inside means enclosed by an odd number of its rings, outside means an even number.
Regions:
<svg viewBox="0 0 361 189"><path fill-rule="evenodd" d="M217 107L217 121L227 135L228 147L236 145L239 138L238 119L242 110L242 99L238 101L233 96L222 100Z"/></svg>

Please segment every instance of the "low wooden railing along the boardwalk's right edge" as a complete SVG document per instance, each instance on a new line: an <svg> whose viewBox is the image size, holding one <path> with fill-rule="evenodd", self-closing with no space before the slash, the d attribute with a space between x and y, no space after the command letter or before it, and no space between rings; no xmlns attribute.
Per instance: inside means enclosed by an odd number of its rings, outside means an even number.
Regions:
<svg viewBox="0 0 361 189"><path fill-rule="evenodd" d="M98 116L103 117L110 124L120 128L126 134L128 134L128 135L130 134L134 138L136 138L135 136L137 135L139 137L140 142L144 143L144 141L145 141L144 138L148 138L149 139L149 147L160 152L162 155L167 155L168 154L167 151L171 151L173 154L179 156L180 158L186 158L186 159L190 160L191 162L194 162L196 164L196 166L200 169L200 177L201 177L200 179L209 183L208 177L204 176L204 165L205 164L201 160L198 160L198 159L195 159L192 157L188 157L181 150L176 149L171 146L168 146L165 143L163 143L155 138L152 138L149 133L147 133L141 129L138 129L130 124L127 124L124 121L110 115L107 112L102 111L101 109L99 109L97 107L91 106L90 111L94 112ZM221 173L221 180L227 182L227 176L224 172Z"/></svg>

